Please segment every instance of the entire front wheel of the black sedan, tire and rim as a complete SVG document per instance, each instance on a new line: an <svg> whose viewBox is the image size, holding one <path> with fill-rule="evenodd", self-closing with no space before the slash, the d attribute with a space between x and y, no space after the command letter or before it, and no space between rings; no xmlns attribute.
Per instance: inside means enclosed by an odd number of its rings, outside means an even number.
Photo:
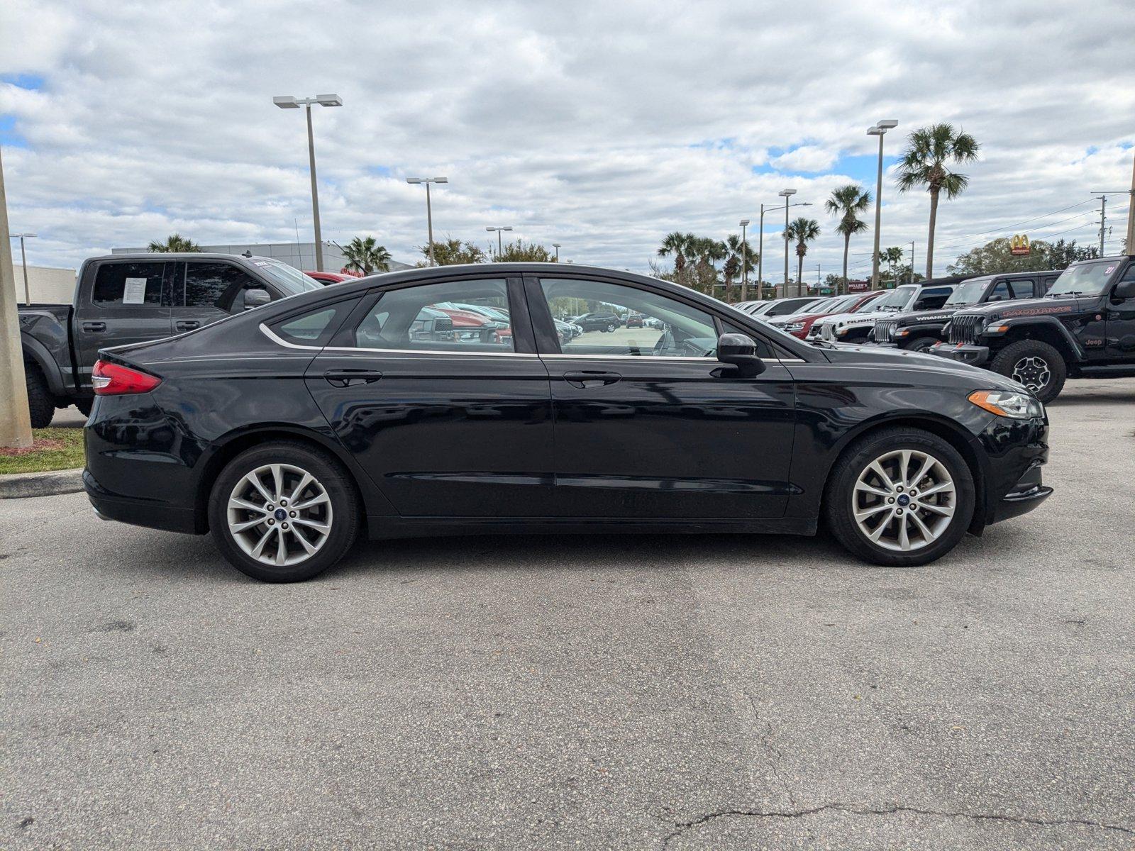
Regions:
<svg viewBox="0 0 1135 851"><path fill-rule="evenodd" d="M888 567L927 564L953 549L974 502L974 479L958 450L916 428L876 431L850 446L825 494L835 538Z"/></svg>

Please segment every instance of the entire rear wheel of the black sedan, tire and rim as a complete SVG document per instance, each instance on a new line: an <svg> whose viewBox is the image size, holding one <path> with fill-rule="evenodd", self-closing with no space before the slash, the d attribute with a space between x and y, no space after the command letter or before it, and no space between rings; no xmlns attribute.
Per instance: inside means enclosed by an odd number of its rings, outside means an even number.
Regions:
<svg viewBox="0 0 1135 851"><path fill-rule="evenodd" d="M304 444L242 453L221 471L209 526L225 557L264 582L311 579L354 542L359 505L346 471Z"/></svg>

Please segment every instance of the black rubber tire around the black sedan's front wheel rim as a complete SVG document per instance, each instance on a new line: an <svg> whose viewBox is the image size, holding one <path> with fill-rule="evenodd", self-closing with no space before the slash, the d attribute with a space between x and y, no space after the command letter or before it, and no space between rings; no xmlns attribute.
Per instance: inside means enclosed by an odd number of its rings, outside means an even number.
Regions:
<svg viewBox="0 0 1135 851"><path fill-rule="evenodd" d="M860 473L873 461L901 449L914 449L935 458L947 470L955 487L953 515L948 525L935 540L909 551L888 549L873 542L856 522L852 504ZM965 536L973 519L974 505L974 478L965 458L938 435L908 427L882 429L851 444L832 467L824 491L824 513L832 534L852 554L883 567L916 567L944 556ZM928 519L934 515L919 512L919 516Z"/></svg>

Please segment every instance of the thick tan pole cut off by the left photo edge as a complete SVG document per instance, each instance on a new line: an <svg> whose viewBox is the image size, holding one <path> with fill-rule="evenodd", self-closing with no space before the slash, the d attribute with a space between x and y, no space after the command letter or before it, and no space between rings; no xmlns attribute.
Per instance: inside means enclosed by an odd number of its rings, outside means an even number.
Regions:
<svg viewBox="0 0 1135 851"><path fill-rule="evenodd" d="M32 445L32 418L27 410L12 271L8 200L3 191L3 160L0 159L0 446L23 449Z"/></svg>

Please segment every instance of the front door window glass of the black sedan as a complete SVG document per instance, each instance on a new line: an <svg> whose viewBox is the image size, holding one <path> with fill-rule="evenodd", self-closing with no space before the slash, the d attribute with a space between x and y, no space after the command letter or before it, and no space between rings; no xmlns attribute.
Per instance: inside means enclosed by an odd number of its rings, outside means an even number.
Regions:
<svg viewBox="0 0 1135 851"><path fill-rule="evenodd" d="M682 302L637 287L579 278L541 278L540 287L563 354L716 356L713 317Z"/></svg>

